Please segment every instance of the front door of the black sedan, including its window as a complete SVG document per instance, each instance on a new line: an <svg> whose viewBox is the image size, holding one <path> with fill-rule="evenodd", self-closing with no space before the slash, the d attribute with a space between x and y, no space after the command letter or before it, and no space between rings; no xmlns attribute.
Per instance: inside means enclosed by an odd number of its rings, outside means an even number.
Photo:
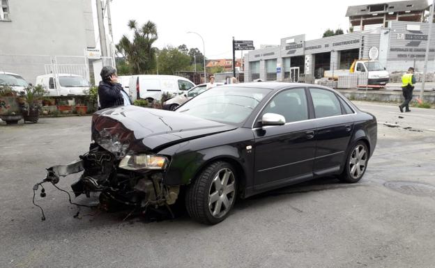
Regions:
<svg viewBox="0 0 435 268"><path fill-rule="evenodd" d="M312 178L316 139L313 123L308 120L305 88L291 88L277 93L259 118L265 113L284 116L286 124L253 130L254 190L273 189Z"/></svg>

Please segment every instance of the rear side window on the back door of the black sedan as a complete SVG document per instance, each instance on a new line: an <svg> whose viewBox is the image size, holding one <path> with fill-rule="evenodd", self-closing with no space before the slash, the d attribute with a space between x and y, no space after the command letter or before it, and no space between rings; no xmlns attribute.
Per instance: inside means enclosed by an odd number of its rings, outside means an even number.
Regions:
<svg viewBox="0 0 435 268"><path fill-rule="evenodd" d="M310 88L316 118L339 116L342 114L337 96L329 90Z"/></svg>

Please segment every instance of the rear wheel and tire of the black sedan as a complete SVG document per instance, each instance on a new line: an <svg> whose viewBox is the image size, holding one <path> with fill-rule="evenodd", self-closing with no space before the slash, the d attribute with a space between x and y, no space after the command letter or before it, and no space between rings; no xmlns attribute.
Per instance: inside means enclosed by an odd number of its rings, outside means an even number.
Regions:
<svg viewBox="0 0 435 268"><path fill-rule="evenodd" d="M353 144L346 157L343 173L339 175L342 182L355 183L363 178L369 161L369 150L364 141Z"/></svg>

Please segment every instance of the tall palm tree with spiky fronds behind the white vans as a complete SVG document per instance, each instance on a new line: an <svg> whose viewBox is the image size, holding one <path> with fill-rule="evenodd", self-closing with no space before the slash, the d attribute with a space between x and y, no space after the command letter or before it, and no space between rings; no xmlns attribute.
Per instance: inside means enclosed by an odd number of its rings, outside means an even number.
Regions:
<svg viewBox="0 0 435 268"><path fill-rule="evenodd" d="M155 70L155 48L153 43L158 38L157 26L148 20L139 28L135 19L128 22L128 28L133 31L133 40L123 36L116 45L119 54L125 56L134 74L150 74Z"/></svg>

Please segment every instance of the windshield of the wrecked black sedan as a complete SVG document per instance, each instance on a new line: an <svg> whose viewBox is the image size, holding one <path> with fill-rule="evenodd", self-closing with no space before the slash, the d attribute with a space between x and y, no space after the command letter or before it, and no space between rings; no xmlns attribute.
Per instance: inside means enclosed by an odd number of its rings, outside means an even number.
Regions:
<svg viewBox="0 0 435 268"><path fill-rule="evenodd" d="M208 120L239 124L247 119L259 102L270 93L266 88L211 88L176 110Z"/></svg>

